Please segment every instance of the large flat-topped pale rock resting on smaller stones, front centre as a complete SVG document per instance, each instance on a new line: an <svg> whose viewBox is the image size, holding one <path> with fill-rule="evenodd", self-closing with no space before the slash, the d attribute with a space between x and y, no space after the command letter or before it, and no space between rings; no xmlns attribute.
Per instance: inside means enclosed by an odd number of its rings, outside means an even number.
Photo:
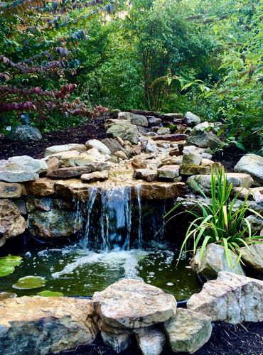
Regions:
<svg viewBox="0 0 263 355"><path fill-rule="evenodd" d="M112 327L141 328L165 322L176 313L173 295L139 280L122 279L92 297L102 322Z"/></svg>

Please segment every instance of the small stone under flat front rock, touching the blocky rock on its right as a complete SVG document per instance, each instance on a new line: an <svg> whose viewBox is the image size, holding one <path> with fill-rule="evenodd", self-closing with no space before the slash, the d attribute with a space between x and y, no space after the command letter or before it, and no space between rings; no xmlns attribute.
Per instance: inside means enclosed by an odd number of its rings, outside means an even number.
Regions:
<svg viewBox="0 0 263 355"><path fill-rule="evenodd" d="M159 355L166 344L166 336L159 327L146 327L136 332L136 341L142 354Z"/></svg>

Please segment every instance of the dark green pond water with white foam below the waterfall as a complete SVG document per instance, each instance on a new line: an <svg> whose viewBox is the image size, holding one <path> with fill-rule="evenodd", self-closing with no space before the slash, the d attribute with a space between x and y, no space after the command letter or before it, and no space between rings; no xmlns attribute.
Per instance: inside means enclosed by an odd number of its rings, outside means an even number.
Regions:
<svg viewBox="0 0 263 355"><path fill-rule="evenodd" d="M25 256L26 254L26 256ZM189 258L183 257L176 268L177 254L167 244L155 244L129 251L90 251L75 246L61 249L38 249L23 256L14 273L0 279L0 292L18 296L36 295L42 290L63 295L93 295L121 278L136 278L158 286L185 300L200 291L200 283L189 268ZM37 275L45 278L45 286L31 290L12 287L19 278Z"/></svg>

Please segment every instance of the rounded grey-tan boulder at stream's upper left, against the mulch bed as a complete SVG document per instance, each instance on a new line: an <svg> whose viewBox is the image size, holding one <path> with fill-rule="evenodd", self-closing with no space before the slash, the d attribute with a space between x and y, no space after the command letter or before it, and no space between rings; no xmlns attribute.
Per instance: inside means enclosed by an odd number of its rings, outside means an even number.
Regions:
<svg viewBox="0 0 263 355"><path fill-rule="evenodd" d="M131 141L133 144L138 143L139 131L134 124L129 121L118 121L107 130L109 138L121 137L124 141Z"/></svg>

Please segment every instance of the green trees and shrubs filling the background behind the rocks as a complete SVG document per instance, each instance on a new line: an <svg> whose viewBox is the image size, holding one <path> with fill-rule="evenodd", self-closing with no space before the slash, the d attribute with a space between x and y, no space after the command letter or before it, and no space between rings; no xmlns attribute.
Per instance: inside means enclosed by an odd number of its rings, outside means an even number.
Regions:
<svg viewBox="0 0 263 355"><path fill-rule="evenodd" d="M261 0L35 1L25 9L22 16L0 8L0 54L63 67L15 75L0 60L0 85L58 91L77 84L53 108L29 110L43 131L80 124L97 105L193 111L221 121L237 146L262 152ZM18 122L17 109L1 107L0 115L1 131Z"/></svg>

